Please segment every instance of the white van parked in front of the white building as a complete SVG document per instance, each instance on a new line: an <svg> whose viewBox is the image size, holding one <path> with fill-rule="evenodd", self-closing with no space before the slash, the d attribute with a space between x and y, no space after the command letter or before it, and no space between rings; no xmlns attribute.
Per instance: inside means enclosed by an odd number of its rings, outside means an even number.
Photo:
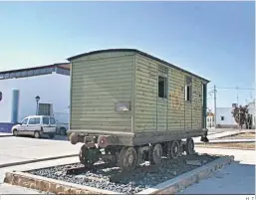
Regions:
<svg viewBox="0 0 256 200"><path fill-rule="evenodd" d="M56 120L55 117L48 115L27 116L12 127L12 133L15 136L32 135L35 138L40 138L45 134L53 138L56 133Z"/></svg>

